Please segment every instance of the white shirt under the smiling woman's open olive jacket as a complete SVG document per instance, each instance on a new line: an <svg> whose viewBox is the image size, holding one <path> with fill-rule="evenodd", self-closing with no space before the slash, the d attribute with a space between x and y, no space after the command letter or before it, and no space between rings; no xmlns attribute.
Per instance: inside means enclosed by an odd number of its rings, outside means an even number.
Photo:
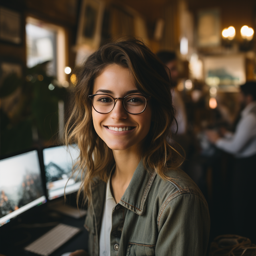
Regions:
<svg viewBox="0 0 256 256"><path fill-rule="evenodd" d="M100 256L110 256L110 232L112 228L112 211L113 208L116 206L116 202L110 190L110 177L108 179L106 187L106 200L104 204L102 223L100 228Z"/></svg>

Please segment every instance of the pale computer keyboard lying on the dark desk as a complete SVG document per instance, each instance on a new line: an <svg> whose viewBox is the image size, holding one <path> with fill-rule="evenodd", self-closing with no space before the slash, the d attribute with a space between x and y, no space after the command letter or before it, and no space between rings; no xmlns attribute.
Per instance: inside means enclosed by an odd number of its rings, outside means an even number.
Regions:
<svg viewBox="0 0 256 256"><path fill-rule="evenodd" d="M26 246L24 250L33 252L35 254L48 256L80 231L80 228L66 224L58 224L36 241Z"/></svg>

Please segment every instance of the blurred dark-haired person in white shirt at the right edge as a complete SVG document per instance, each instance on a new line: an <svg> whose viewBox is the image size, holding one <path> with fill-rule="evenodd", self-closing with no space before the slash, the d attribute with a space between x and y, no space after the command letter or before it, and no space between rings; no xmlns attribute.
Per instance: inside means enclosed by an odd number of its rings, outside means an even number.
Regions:
<svg viewBox="0 0 256 256"><path fill-rule="evenodd" d="M217 148L234 155L232 226L236 234L256 242L256 82L240 86L239 101L241 119L234 134L222 129L222 136L214 130L207 130L206 135Z"/></svg>

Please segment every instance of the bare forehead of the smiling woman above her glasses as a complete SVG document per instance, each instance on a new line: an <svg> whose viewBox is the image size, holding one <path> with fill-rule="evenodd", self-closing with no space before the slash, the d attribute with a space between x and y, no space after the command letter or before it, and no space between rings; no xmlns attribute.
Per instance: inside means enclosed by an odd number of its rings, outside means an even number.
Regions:
<svg viewBox="0 0 256 256"><path fill-rule="evenodd" d="M94 80L93 94L100 93L100 90L124 94L130 90L137 90L137 88L128 68L111 64L106 66L103 72Z"/></svg>

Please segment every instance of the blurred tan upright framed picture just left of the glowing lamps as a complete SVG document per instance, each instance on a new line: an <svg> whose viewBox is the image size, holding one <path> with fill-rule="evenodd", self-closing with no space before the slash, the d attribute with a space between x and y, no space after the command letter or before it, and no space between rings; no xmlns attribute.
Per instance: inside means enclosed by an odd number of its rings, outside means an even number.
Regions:
<svg viewBox="0 0 256 256"><path fill-rule="evenodd" d="M198 12L198 47L218 46L221 42L220 12L217 9Z"/></svg>

